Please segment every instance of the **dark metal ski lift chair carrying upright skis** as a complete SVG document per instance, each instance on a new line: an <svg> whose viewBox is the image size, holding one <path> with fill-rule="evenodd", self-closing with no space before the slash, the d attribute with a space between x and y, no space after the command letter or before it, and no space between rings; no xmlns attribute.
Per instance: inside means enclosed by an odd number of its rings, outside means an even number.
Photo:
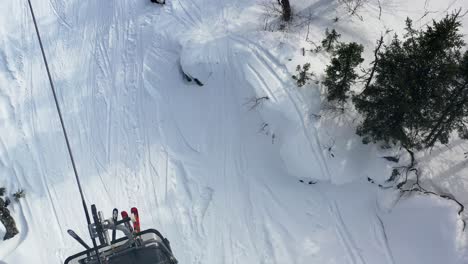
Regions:
<svg viewBox="0 0 468 264"><path fill-rule="evenodd" d="M68 257L65 264L177 264L172 254L169 240L156 229L147 229L138 233L131 232L129 217L114 222L112 219L90 226L95 237L105 241L96 248L90 248L73 231L72 235L86 250ZM98 231L101 230L101 231ZM114 241L106 241L108 230L122 231L125 236ZM108 236L107 236L108 237ZM108 239L107 239L108 240Z"/></svg>

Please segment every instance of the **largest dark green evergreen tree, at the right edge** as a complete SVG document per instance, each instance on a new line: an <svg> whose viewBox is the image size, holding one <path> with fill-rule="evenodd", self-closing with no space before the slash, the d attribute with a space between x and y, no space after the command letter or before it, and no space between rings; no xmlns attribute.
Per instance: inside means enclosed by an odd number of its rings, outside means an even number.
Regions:
<svg viewBox="0 0 468 264"><path fill-rule="evenodd" d="M404 39L395 36L379 52L375 82L354 98L364 143L422 149L448 143L453 131L468 137L468 54L461 52L459 14L421 30L407 19Z"/></svg>

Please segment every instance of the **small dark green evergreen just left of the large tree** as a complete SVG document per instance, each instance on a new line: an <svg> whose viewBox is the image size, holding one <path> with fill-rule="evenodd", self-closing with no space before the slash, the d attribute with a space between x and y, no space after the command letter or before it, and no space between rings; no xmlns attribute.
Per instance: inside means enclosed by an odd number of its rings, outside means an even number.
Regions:
<svg viewBox="0 0 468 264"><path fill-rule="evenodd" d="M358 75L354 69L364 60L361 53L364 48L356 42L340 44L327 66L323 84L328 89L328 101L344 103L348 92Z"/></svg>

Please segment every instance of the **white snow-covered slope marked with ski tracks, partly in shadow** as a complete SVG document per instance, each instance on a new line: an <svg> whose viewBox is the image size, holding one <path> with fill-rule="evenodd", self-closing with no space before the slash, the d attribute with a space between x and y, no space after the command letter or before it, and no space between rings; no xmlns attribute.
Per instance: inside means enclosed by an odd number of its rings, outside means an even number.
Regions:
<svg viewBox="0 0 468 264"><path fill-rule="evenodd" d="M291 0L286 32L265 30L278 21L252 0L32 2L88 203L139 207L180 263L468 263L457 204L368 183L393 164L361 144L353 114L314 118L319 85L291 79L304 62L323 74L329 58L302 47L327 27L369 63L406 16L423 26L466 1L380 0L379 19L370 0L361 21L337 1ZM27 192L0 263L61 263L81 250L66 230L85 236L84 213L27 2L0 13L0 186ZM418 153L422 184L468 204L467 151Z"/></svg>

